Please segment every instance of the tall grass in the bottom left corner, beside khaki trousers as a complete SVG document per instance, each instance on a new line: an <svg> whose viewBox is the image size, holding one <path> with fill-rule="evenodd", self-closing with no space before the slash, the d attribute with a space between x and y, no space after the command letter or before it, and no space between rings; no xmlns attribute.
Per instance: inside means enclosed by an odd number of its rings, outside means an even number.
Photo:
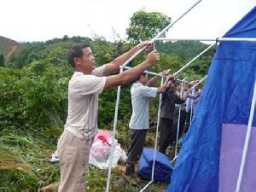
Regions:
<svg viewBox="0 0 256 192"><path fill-rule="evenodd" d="M50 165L47 160L49 151L25 132L19 133L23 136L0 134L0 189L38 191L42 186L58 180L58 166ZM36 137L41 139L38 135Z"/></svg>

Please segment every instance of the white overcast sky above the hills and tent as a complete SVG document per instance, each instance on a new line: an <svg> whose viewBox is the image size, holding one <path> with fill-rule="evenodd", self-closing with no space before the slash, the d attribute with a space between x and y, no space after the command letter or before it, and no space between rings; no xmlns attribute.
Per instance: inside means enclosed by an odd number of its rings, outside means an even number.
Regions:
<svg viewBox="0 0 256 192"><path fill-rule="evenodd" d="M157 11L176 20L197 0L2 0L0 36L16 41L45 41L64 35L121 38L133 13ZM217 38L224 35L256 0L202 0L169 32L169 38Z"/></svg>

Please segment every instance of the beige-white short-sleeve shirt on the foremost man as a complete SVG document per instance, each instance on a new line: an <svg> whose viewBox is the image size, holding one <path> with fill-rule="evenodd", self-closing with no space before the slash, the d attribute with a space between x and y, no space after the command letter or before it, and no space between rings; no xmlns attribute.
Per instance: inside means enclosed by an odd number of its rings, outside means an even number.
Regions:
<svg viewBox="0 0 256 192"><path fill-rule="evenodd" d="M95 137L98 131L98 96L102 93L106 77L105 66L90 75L73 73L68 84L68 111L65 129L81 139Z"/></svg>

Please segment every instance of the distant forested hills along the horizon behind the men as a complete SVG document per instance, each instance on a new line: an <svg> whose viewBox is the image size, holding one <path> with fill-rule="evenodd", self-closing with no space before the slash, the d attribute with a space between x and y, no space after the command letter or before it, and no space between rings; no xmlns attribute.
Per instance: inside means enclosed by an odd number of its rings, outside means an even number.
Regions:
<svg viewBox="0 0 256 192"><path fill-rule="evenodd" d="M10 41L11 42L11 41ZM63 38L54 38L46 42L34 42L26 44L17 44L13 46L23 47L20 53L15 52L16 54L9 58L8 61L5 61L6 67L12 68L22 68L25 66L31 65L32 61L40 61L44 59L45 56L49 55L51 51L54 51L56 48L59 50L62 49L64 53L72 44L90 44L94 53L96 55L96 61L98 64L102 64L108 61L113 60L117 55L122 54L129 48L131 44L119 41L116 43L110 43L104 38L83 38L83 37L73 37L68 38L64 36ZM12 44L15 44L13 41ZM156 43L156 48L164 55L165 61L166 56L175 57L177 61L186 62L198 55L203 49L207 48L207 44L202 44L198 41L178 41L178 42L166 42L166 43ZM0 53L4 52L6 47L0 46ZM6 51L5 51L6 52ZM198 73L206 73L207 66L209 65L209 59L212 58L214 54L214 49L210 49L205 55L201 57L198 62L196 61L193 65L193 68ZM65 55L61 55L65 57ZM207 63L205 63L207 60ZM167 59L168 61L168 59ZM201 63L201 64L199 64ZM201 65L201 66L197 66ZM202 67L204 69L202 69Z"/></svg>

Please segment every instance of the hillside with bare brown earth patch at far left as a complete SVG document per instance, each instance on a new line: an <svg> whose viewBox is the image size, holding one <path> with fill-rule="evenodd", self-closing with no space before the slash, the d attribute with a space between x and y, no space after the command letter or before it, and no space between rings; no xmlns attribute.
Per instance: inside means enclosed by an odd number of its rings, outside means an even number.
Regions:
<svg viewBox="0 0 256 192"><path fill-rule="evenodd" d="M8 60L11 55L19 53L20 49L21 45L16 41L0 36L0 55L3 55L6 60Z"/></svg>

